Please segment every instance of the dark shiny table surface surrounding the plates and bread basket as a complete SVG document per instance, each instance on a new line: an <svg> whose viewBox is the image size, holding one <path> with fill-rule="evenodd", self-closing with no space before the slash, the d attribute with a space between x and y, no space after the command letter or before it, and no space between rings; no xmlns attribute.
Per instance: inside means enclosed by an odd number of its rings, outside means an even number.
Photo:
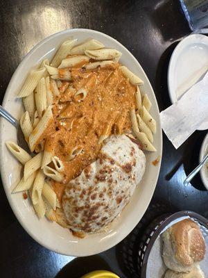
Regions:
<svg viewBox="0 0 208 278"><path fill-rule="evenodd" d="M178 1L0 2L0 101L17 65L37 42L63 29L92 28L119 40L139 60L153 85L160 111L171 104L166 85L168 61L177 42L190 33ZM162 167L152 204L162 205L167 211L189 209L207 215L208 193L199 176L192 185L182 185L186 173L198 163L198 152L205 134L206 131L196 131L177 150L164 136ZM96 268L112 269L121 277L133 277L125 271L119 259L123 242L103 254L73 261L70 256L55 254L40 246L17 222L2 184L0 235L0 277L38 278L57 275L76 278Z"/></svg>

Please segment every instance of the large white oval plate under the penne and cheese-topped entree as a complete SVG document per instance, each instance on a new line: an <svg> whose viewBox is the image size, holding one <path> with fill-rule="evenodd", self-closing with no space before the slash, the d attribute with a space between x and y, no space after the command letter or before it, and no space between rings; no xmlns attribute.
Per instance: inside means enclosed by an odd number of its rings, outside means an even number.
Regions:
<svg viewBox="0 0 208 278"><path fill-rule="evenodd" d="M153 196L159 175L160 162L155 167L152 161L157 156L162 156L162 129L153 88L141 65L122 44L108 35L88 29L71 29L55 33L37 44L20 63L19 67L17 67L15 74L13 74L3 99L3 107L19 119L23 108L21 100L19 101L16 96L29 70L37 67L43 58L51 59L60 43L64 42L64 40L69 40L72 36L73 38L78 38L78 42L94 38L103 42L106 47L118 49L123 54L121 63L129 67L132 72L135 72L135 74L138 74L144 80L141 90L146 92L150 101L152 101L153 108L151 113L157 122L157 133L154 136L154 145L157 148L157 152L146 154L147 163L144 177L132 196L130 203L125 207L119 218L112 222L107 231L101 234L89 235L83 239L74 237L68 229L60 227L55 222L49 222L46 218L38 220L28 199L24 200L21 193L10 193L12 185L20 179L22 167L6 148L6 140L16 141L17 133L15 128L4 119L0 120L1 177L10 206L28 234L49 250L71 256L88 256L103 252L119 243L134 229L144 215Z"/></svg>

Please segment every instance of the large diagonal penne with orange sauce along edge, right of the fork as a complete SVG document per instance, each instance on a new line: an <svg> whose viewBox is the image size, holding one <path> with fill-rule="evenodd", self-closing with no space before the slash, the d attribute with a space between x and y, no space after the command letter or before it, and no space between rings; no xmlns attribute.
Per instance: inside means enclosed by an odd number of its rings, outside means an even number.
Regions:
<svg viewBox="0 0 208 278"><path fill-rule="evenodd" d="M31 136L29 137L29 145L31 148L31 152L34 152L38 140L40 140L40 137L52 122L53 122L53 113L51 110L51 106L49 106L46 109L44 115L42 116L40 122L38 122L37 126L35 126L35 129L33 129Z"/></svg>

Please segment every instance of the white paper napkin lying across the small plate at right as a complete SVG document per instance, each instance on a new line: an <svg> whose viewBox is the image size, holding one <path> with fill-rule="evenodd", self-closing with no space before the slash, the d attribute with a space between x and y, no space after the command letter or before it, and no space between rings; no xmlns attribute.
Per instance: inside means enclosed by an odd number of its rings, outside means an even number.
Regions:
<svg viewBox="0 0 208 278"><path fill-rule="evenodd" d="M162 129L175 149L208 117L208 72L175 104L160 113Z"/></svg>

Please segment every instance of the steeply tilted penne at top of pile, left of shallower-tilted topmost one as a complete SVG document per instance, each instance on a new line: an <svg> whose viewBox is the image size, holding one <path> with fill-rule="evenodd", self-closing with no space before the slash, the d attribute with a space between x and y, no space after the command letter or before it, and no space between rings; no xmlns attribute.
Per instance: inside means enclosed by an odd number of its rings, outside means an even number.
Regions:
<svg viewBox="0 0 208 278"><path fill-rule="evenodd" d="M66 42L63 42L56 52L55 56L53 57L53 60L51 61L52 67L58 67L61 63L61 61L67 57L69 52L71 51L72 47L76 44L77 40L67 40Z"/></svg>

